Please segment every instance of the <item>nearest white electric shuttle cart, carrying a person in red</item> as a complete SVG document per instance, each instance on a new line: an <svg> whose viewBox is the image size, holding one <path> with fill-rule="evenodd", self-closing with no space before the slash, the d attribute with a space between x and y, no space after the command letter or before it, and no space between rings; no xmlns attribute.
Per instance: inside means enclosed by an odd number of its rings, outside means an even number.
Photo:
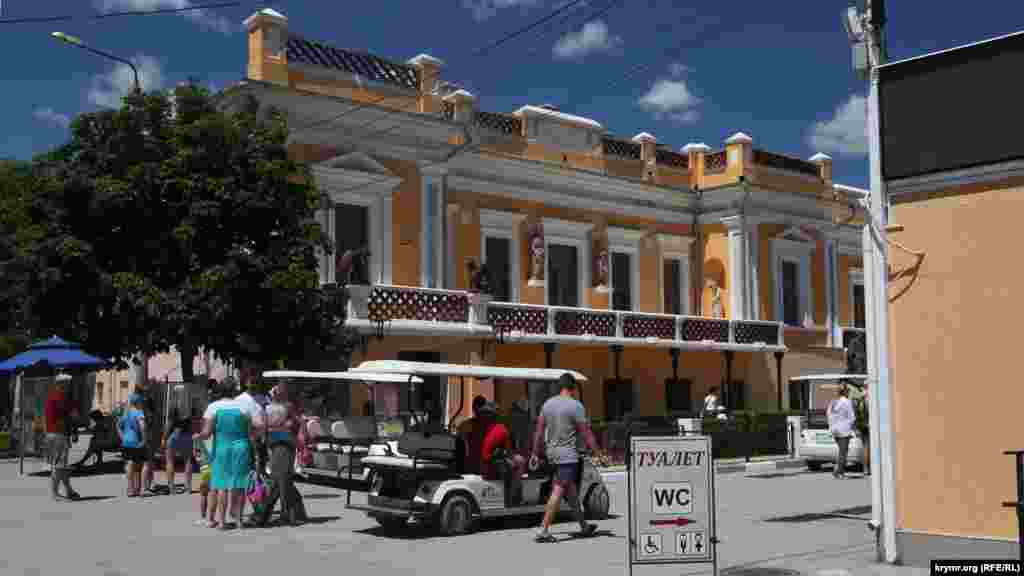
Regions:
<svg viewBox="0 0 1024 576"><path fill-rule="evenodd" d="M465 378L554 382L562 374L571 374L577 382L586 377L570 370L503 368L461 364L433 364L402 361L367 361L349 371L360 373L402 374L457 377L465 400ZM496 384L500 385L500 384ZM460 403L461 406L461 403ZM461 410L461 408L460 408ZM458 414L457 414L458 415ZM455 421L455 418L452 419ZM525 448L525 447L519 447ZM471 532L482 519L536 516L544 512L551 493L552 472L539 466L523 475L521 500L510 505L511 472L503 469L502 480L488 481L475 474L465 474L465 442L449 429L412 429L401 436L397 449L390 454L373 454L362 459L372 471L373 482L366 505L352 504L349 489L346 506L362 510L386 527L424 525L444 535ZM610 496L601 474L583 458L580 495L584 510L591 519L607 518ZM568 510L563 503L562 510Z"/></svg>

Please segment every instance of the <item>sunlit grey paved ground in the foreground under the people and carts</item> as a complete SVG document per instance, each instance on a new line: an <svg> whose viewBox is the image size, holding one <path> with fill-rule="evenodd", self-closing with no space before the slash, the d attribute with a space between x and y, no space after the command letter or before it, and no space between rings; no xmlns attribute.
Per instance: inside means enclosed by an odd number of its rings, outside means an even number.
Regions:
<svg viewBox="0 0 1024 576"><path fill-rule="evenodd" d="M42 469L30 461L27 471ZM52 502L45 478L18 478L16 460L0 460L0 573L76 574L358 574L485 573L500 575L625 574L626 482L608 475L616 517L601 523L601 536L567 539L570 524L557 527L564 541L535 544L531 526L486 526L477 534L441 538L385 533L362 513L345 509L344 491L303 485L313 522L227 533L193 526L198 496L126 499L116 474L75 479L80 502ZM179 480L180 482L180 480ZM353 496L356 500L362 494ZM863 479L835 481L802 470L760 477L719 477L723 569L734 575L925 574L872 564L866 528L869 503ZM845 510L857 518L823 517ZM784 570L783 570L784 569ZM725 570L723 570L725 572ZM685 572L678 567L638 567L646 574ZM827 573L827 572L826 572ZM837 574L842 574L839 572Z"/></svg>

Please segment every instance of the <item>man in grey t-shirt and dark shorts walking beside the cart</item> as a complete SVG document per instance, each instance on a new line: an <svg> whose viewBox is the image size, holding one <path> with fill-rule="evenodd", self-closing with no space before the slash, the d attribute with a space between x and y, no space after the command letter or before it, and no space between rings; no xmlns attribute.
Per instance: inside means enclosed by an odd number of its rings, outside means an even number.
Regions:
<svg viewBox="0 0 1024 576"><path fill-rule="evenodd" d="M597 526L588 524L584 518L583 505L580 502L579 484L583 472L583 461L580 456L580 439L583 439L591 452L600 459L605 460L600 454L597 441L590 429L587 414L583 404L575 399L577 383L575 378L570 374L562 374L558 379L559 394L549 398L541 408L541 415L537 418L537 428L534 431L534 452L530 456L530 468L536 468L540 457L547 455L548 462L556 468L554 484L551 488L551 497L544 510L544 524L538 532L536 540L538 542L554 542L551 535L551 523L558 513L562 495L572 506L577 521L580 523L580 532L583 536L590 536ZM547 438L546 446L543 443ZM546 450L542 451L542 448Z"/></svg>

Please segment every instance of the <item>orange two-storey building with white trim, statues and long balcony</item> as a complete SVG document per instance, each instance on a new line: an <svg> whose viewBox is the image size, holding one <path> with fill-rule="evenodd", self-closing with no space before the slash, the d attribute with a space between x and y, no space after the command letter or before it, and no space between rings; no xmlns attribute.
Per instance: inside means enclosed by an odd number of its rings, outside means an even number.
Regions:
<svg viewBox="0 0 1024 576"><path fill-rule="evenodd" d="M481 111L430 55L306 40L269 9L246 24L248 78L226 101L287 113L338 252L370 249L370 286L351 288L347 322L367 335L353 362L571 368L608 419L692 412L726 381L732 408L784 408L780 379L843 366L843 330L862 319L863 191L834 182L827 156L743 133L677 152L553 107ZM487 264L492 297L468 291L470 262ZM322 277L346 281L332 257ZM428 385L421 400L446 419L474 394L507 408L551 392L497 388L475 382L460 404L456 386Z"/></svg>

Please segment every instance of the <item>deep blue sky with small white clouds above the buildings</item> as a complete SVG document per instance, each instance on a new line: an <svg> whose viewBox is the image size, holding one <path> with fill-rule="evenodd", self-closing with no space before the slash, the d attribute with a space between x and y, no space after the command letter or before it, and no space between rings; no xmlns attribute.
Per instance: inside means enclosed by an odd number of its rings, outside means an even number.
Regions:
<svg viewBox="0 0 1024 576"><path fill-rule="evenodd" d="M851 71L840 12L844 0L682 2L588 0L482 56L471 53L565 0L283 0L269 4L293 32L342 48L404 60L426 52L444 78L477 95L481 109L510 112L554 104L611 132L654 134L678 149L721 148L736 131L755 146L835 158L835 177L866 186L864 84ZM188 0L0 0L3 17L181 7ZM975 0L888 2L890 56L903 58L1015 32L1024 4ZM0 158L29 158L65 141L76 114L118 102L124 67L53 41L59 30L131 57L144 89L189 76L214 87L245 75L242 22L266 4L186 15L125 16L0 25ZM742 11L741 11L742 10Z"/></svg>

